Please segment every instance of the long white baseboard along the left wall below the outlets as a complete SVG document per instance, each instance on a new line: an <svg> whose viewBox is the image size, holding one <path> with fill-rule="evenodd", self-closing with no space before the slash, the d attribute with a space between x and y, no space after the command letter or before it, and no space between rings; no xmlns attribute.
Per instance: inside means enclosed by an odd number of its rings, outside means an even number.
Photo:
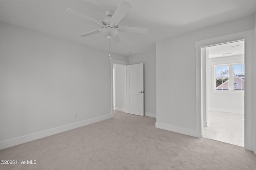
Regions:
<svg viewBox="0 0 256 170"><path fill-rule="evenodd" d="M68 130L71 130L71 129L75 129L75 128L78 128L78 127L82 127L82 126L85 126L85 125L89 125L89 124L92 124L92 123L96 123L98 121L103 121L103 120L106 120L106 119L109 119L109 118L112 118L112 117L114 117L113 114L104 115L104 116L95 117L95 118L92 118L92 119L88 119L88 120L79 121L79 122L76 122L76 123L56 127L56 128L53 128L53 129L48 129L48 130L45 130L45 131L40 131L40 132L37 132L37 133L32 133L32 134L25 135L25 136L22 136L22 137L16 137L14 139L9 139L9 140L6 140L6 141L2 141L2 142L0 142L0 150L8 148L8 147L15 146L15 145L19 145L19 144L22 144L22 143L26 143L26 142L29 142L29 141L34 141L36 139L40 139L40 138L47 137L47 136L50 136L50 135L54 135L54 134L57 134L57 133L61 133L61 132L64 132L64 131L68 131Z"/></svg>

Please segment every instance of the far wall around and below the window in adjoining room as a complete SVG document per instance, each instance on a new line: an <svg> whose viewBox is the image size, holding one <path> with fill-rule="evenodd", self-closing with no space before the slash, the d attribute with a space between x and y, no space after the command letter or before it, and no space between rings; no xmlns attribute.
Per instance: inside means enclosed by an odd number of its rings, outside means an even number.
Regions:
<svg viewBox="0 0 256 170"><path fill-rule="evenodd" d="M231 113L244 113L244 92L212 92L212 63L232 60L244 61L244 55L218 57L208 60L208 74L210 81L207 82L209 93L209 110L224 111ZM245 82L246 83L246 82Z"/></svg>

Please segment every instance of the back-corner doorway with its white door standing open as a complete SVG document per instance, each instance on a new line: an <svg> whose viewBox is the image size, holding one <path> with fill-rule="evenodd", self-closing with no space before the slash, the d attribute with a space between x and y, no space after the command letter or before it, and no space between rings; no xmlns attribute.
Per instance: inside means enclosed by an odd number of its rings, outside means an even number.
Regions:
<svg viewBox="0 0 256 170"><path fill-rule="evenodd" d="M111 58L110 61L111 114L114 116L115 109L144 116L143 63L129 65L125 61Z"/></svg>

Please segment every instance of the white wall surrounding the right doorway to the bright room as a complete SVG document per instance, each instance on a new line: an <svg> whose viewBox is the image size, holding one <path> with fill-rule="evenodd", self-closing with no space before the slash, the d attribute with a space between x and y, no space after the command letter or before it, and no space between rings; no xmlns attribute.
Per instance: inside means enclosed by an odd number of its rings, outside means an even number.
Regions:
<svg viewBox="0 0 256 170"><path fill-rule="evenodd" d="M156 127L202 137L201 124L198 122L200 117L196 112L198 107L196 101L200 98L196 93L200 91L200 86L196 86L198 82L200 84L200 77L196 76L197 70L200 70L200 59L199 68L196 68L198 60L194 47L195 41L253 29L254 17L254 15L248 16L156 43ZM250 43L248 42L248 47L251 48L253 46ZM252 51L252 49L246 50ZM253 61L252 57L248 56L248 61ZM253 68L251 65L249 62L246 66ZM253 79L253 74L249 74L248 76ZM253 84L247 85L248 89L253 89ZM248 106L245 105L245 107L247 107L248 119L251 119L253 99L250 95L247 99ZM252 131L253 122L249 120L248 134L250 133L251 136L253 136ZM251 150L251 145L250 138L247 149Z"/></svg>

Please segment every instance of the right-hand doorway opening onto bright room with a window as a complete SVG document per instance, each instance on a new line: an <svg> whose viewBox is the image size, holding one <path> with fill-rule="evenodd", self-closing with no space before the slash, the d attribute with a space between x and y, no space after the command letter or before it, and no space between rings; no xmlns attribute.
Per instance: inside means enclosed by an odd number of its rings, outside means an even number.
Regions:
<svg viewBox="0 0 256 170"><path fill-rule="evenodd" d="M202 136L244 147L244 40L203 47Z"/></svg>

